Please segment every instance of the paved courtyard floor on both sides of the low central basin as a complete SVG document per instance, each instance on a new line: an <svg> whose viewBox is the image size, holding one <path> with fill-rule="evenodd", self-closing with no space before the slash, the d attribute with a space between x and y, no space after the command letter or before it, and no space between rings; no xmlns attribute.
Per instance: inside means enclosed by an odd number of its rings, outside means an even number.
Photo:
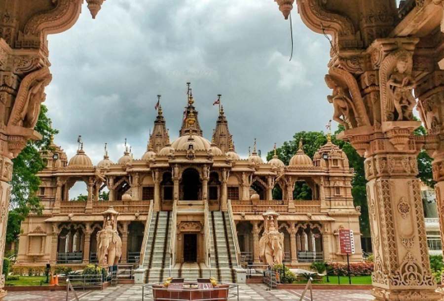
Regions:
<svg viewBox="0 0 444 301"><path fill-rule="evenodd" d="M300 299L301 290L272 290L267 291L262 284L242 284L239 286L239 300L296 300ZM308 296L307 296L308 295ZM82 301L133 301L142 300L141 285L118 285L103 291L77 291L77 296ZM59 292L9 292L5 301L61 301L65 300L66 293ZM74 301L74 295L70 293L68 300ZM147 299L146 299L147 300ZM149 300L149 299L148 299ZM231 299L235 300L235 299ZM309 301L307 292L304 301ZM361 290L315 290L313 291L315 301L366 301L373 300L370 291Z"/></svg>

